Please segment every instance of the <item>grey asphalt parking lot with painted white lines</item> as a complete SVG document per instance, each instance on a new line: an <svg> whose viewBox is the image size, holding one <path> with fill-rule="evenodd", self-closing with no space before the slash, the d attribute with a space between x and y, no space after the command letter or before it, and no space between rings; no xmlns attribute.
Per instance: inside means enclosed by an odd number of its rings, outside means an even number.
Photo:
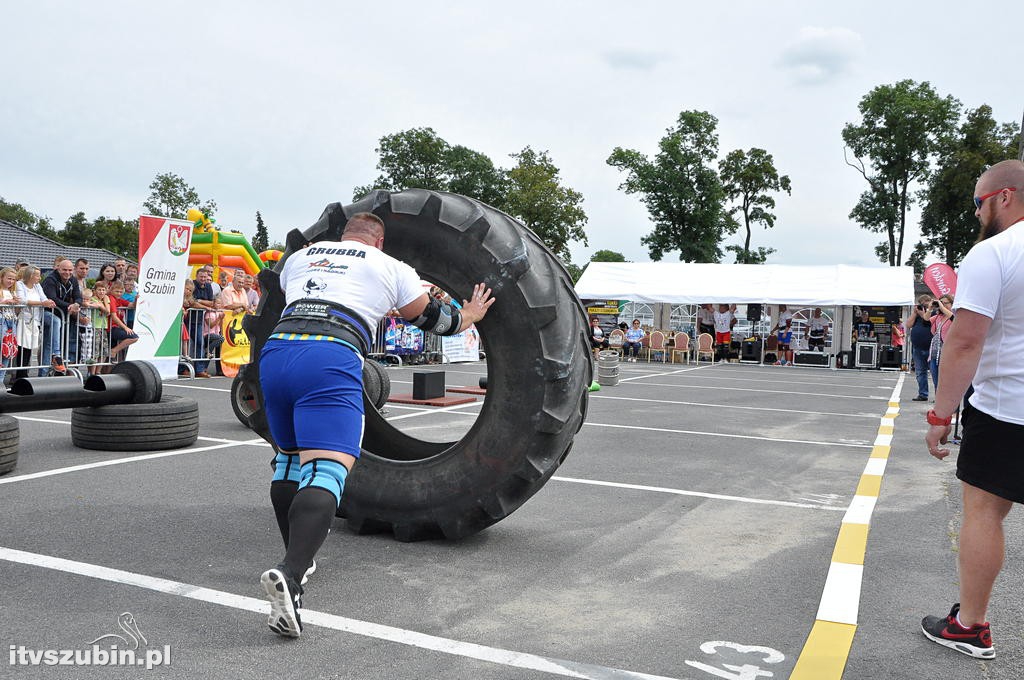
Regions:
<svg viewBox="0 0 1024 680"><path fill-rule="evenodd" d="M443 369L449 386L475 386L486 371ZM393 393L412 390L414 370L436 367L389 369ZM997 657L920 632L956 597L959 501L954 463L925 449L928 405L909 400L912 376L623 364L618 385L591 394L555 477L485 532L398 543L337 521L299 640L273 635L261 613L258 576L282 555L270 450L234 419L228 387L165 385L199 400L201 438L160 457L74 448L67 410L18 416L18 466L0 477L0 678L840 677L807 669L842 645L808 639L886 422L862 580L840 584L856 624L842 677L1024 675L1020 510L989 610ZM388 405L387 415L446 438L478 410ZM131 642L125 612L145 638L139 653L169 650L169 665L22 664L109 634ZM113 643L125 646L99 642Z"/></svg>

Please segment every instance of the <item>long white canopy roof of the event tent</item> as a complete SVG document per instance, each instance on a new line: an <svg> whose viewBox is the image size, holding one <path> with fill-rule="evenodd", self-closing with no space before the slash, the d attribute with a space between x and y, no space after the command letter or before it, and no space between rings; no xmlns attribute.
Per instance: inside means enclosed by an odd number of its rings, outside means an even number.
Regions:
<svg viewBox="0 0 1024 680"><path fill-rule="evenodd" d="M907 306L913 304L913 269L846 264L591 262L575 291L584 300Z"/></svg>

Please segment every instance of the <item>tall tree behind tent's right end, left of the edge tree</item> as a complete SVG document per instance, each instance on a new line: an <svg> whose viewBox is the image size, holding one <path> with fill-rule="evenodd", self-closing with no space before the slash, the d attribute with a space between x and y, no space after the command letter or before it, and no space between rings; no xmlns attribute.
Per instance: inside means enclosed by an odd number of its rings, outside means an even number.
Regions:
<svg viewBox="0 0 1024 680"><path fill-rule="evenodd" d="M876 248L883 262L896 266L903 259L906 211L912 186L928 178L932 157L953 133L961 103L939 94L927 83L901 80L880 85L858 104L859 124L843 127L844 156L868 188L850 218L887 239Z"/></svg>

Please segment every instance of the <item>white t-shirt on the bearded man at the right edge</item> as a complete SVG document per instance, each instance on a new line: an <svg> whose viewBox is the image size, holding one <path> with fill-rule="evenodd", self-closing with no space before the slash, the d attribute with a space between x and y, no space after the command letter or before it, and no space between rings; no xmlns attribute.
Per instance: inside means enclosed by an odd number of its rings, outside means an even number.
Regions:
<svg viewBox="0 0 1024 680"><path fill-rule="evenodd" d="M967 254L953 311L969 309L992 325L974 376L971 405L992 418L1024 425L1024 222L982 241Z"/></svg>

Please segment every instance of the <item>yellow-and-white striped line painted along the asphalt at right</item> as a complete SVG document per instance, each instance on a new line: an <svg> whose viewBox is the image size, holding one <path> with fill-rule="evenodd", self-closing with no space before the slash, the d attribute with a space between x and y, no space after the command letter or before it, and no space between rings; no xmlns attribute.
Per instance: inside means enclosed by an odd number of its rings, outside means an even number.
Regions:
<svg viewBox="0 0 1024 680"><path fill-rule="evenodd" d="M889 458L896 417L899 416L899 393L903 388L906 374L900 374L893 389L892 399L886 415L879 425L876 443L871 448L872 459ZM868 463L867 469L882 471L885 463ZM860 603L860 583L867 552L867 532L872 510L872 499L882 491L881 474L862 474L857 483L857 497L847 511L847 518L840 525L836 547L833 549L831 566L821 594L818 619L811 628L807 642L797 658L790 680L841 680L846 669L846 661L853 646L853 636L857 632L857 609ZM860 523L861 520L864 523ZM855 594L855 597L854 597ZM834 619L835 621L828 621ZM850 623L838 623L840 621Z"/></svg>

